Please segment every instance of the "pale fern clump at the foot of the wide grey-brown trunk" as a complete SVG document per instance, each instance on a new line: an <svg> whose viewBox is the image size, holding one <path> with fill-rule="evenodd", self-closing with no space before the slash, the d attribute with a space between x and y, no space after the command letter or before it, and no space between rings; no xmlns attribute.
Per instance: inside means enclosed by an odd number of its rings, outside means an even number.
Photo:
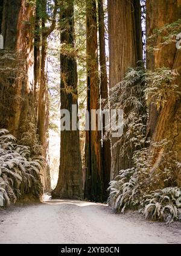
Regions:
<svg viewBox="0 0 181 256"><path fill-rule="evenodd" d="M112 210L124 211L127 208L133 208L138 204L136 193L138 188L138 170L135 168L121 170L114 181L110 182L109 198L107 202Z"/></svg>

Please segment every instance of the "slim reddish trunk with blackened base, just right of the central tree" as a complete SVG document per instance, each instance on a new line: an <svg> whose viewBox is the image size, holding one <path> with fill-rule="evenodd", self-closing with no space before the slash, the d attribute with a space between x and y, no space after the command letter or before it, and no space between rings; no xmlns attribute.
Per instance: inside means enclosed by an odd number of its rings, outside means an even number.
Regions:
<svg viewBox="0 0 181 256"><path fill-rule="evenodd" d="M86 1L87 19L87 110L91 127L91 110L100 109L100 88L98 79L97 8L95 0ZM98 127L96 127L97 129ZM93 201L103 199L103 178L101 171L101 132L86 132L86 187L85 198Z"/></svg>

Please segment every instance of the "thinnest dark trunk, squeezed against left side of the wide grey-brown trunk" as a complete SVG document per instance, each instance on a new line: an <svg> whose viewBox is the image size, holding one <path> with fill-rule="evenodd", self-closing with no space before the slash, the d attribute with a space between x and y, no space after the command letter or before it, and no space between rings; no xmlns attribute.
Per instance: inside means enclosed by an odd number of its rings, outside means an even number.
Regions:
<svg viewBox="0 0 181 256"><path fill-rule="evenodd" d="M107 70L106 70L106 45L105 45L105 28L104 28L104 8L103 0L98 0L98 22L99 22L99 40L100 40L100 66L101 66L101 99L108 98L108 85L107 85ZM105 135L105 117L103 116L103 136ZM102 148L102 162L103 162L103 182L104 193L109 186L110 182L110 167L111 167L111 154L110 154L110 140L103 141Z"/></svg>

